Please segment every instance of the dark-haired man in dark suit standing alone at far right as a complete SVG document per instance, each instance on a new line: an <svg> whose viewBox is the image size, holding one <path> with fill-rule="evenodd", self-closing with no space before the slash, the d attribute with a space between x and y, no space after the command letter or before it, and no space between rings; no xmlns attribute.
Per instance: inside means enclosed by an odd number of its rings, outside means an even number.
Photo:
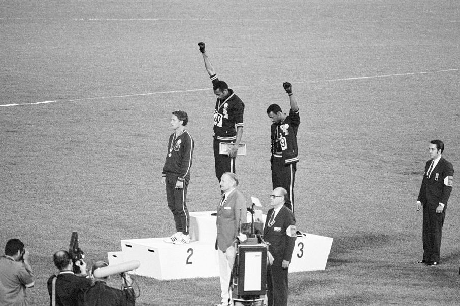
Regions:
<svg viewBox="0 0 460 306"><path fill-rule="evenodd" d="M452 191L453 166L441 156L444 151L441 140L430 141L428 149L430 160L426 162L417 198L417 210L423 205L423 260L418 263L435 266L439 264L442 225Z"/></svg>

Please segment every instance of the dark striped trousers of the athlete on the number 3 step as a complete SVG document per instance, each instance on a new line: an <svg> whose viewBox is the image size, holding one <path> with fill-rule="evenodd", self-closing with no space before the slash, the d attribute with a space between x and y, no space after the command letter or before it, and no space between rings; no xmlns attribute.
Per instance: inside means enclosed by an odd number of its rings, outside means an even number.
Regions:
<svg viewBox="0 0 460 306"><path fill-rule="evenodd" d="M281 157L272 159L272 187L273 189L282 187L287 191L287 200L284 202L287 208L294 211L294 183L295 164L284 165L284 160Z"/></svg>

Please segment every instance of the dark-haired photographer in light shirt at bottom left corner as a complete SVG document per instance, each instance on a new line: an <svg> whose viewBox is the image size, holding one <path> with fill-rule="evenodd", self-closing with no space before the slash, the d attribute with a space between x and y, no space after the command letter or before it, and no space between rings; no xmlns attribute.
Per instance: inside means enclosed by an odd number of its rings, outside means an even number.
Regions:
<svg viewBox="0 0 460 306"><path fill-rule="evenodd" d="M28 305L25 289L34 284L29 252L19 239L8 240L0 257L0 305Z"/></svg>

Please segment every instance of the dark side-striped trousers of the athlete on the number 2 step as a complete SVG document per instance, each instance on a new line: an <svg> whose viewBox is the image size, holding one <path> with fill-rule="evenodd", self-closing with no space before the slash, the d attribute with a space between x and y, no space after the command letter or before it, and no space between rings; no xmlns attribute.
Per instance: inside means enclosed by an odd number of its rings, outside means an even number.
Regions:
<svg viewBox="0 0 460 306"><path fill-rule="evenodd" d="M184 187L176 189L177 176L166 175L166 199L168 200L168 207L173 213L176 231L182 232L184 235L188 235L190 230L190 215L188 214L185 203L189 180L190 177L185 177Z"/></svg>

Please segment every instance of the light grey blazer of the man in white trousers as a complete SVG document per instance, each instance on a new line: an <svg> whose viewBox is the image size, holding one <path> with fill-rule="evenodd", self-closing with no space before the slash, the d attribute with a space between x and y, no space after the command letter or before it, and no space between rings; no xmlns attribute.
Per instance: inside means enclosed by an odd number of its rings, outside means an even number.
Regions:
<svg viewBox="0 0 460 306"><path fill-rule="evenodd" d="M218 247L225 252L233 244L240 233L240 224L246 223L246 211L246 200L237 189L228 195L222 207L217 206L216 250Z"/></svg>

